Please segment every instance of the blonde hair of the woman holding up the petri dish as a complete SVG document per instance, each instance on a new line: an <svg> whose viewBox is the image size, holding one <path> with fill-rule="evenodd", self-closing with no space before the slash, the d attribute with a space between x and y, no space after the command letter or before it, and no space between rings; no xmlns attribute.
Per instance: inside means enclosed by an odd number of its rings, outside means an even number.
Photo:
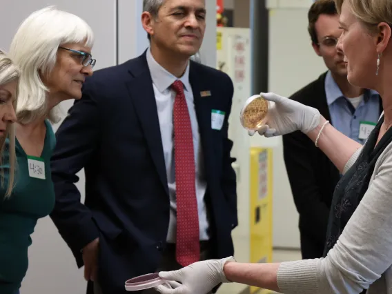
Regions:
<svg viewBox="0 0 392 294"><path fill-rule="evenodd" d="M389 0L335 0L338 13L342 11L344 1L349 2L355 17L371 32L381 22L392 24L392 6Z"/></svg>

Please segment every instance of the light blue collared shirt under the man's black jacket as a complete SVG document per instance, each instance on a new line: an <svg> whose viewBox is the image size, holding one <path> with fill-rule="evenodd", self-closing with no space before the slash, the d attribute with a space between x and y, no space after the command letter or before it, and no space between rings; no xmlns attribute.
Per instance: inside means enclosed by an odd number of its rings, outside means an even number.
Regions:
<svg viewBox="0 0 392 294"><path fill-rule="evenodd" d="M365 90L364 99L357 108L343 96L329 71L325 78L326 102L331 114L331 123L341 133L364 144L366 139L360 139L360 122L370 121L377 124L380 118L380 98L375 90Z"/></svg>

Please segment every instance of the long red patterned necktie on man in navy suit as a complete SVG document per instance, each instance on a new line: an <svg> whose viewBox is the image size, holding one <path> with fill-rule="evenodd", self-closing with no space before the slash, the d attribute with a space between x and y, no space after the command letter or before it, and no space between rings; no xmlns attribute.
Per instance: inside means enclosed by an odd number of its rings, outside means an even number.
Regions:
<svg viewBox="0 0 392 294"><path fill-rule="evenodd" d="M172 85L176 92L173 107L175 190L177 198L176 257L182 266L200 259L199 215L195 188L195 153L192 126L182 81Z"/></svg>

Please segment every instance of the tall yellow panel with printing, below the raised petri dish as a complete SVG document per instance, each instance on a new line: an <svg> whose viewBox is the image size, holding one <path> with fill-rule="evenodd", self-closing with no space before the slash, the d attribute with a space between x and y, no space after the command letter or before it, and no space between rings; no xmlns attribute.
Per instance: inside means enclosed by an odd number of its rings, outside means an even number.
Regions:
<svg viewBox="0 0 392 294"><path fill-rule="evenodd" d="M272 187L273 151L271 148L251 148L250 199L250 262L272 262ZM259 292L261 290L261 292ZM251 287L251 293L271 293Z"/></svg>

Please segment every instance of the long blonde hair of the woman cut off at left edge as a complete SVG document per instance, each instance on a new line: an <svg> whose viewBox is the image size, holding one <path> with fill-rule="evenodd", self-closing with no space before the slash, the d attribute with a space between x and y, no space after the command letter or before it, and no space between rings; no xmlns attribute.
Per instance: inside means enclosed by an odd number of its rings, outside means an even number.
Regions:
<svg viewBox="0 0 392 294"><path fill-rule="evenodd" d="M0 87L19 79L19 69L14 65L12 60L6 56L6 53L0 50ZM17 102L14 102L14 108L16 108ZM11 196L12 188L14 187L14 176L16 167L16 154L15 154L15 130L14 124L8 124L6 135L0 138L0 166L4 164L3 162L3 151L6 145L6 139L9 139L10 146L8 147L8 152L10 153L10 158L8 159L8 164L10 165L9 177L8 177L8 187L6 190L5 197ZM1 187L4 186L4 168L0 170L1 175Z"/></svg>

